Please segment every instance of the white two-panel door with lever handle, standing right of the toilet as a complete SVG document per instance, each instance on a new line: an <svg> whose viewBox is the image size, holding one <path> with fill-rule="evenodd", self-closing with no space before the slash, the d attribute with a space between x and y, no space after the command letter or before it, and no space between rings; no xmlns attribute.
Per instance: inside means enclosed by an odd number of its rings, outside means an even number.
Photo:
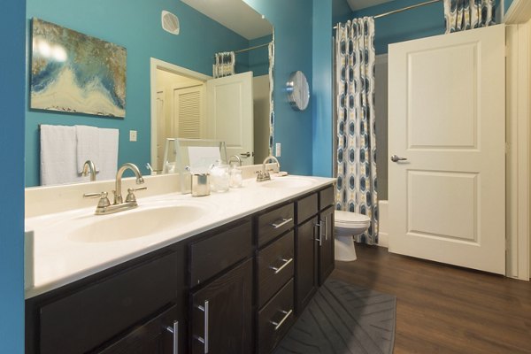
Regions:
<svg viewBox="0 0 531 354"><path fill-rule="evenodd" d="M504 33L389 46L389 251L505 273Z"/></svg>

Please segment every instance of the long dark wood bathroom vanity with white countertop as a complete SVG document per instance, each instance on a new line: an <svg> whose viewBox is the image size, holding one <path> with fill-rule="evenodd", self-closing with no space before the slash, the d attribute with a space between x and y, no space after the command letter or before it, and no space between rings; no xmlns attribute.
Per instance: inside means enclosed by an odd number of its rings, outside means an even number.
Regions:
<svg viewBox="0 0 531 354"><path fill-rule="evenodd" d="M205 197L216 212L157 231L145 247L142 237L84 240L53 255L46 262L55 265L27 289L26 352L271 352L334 268L334 181L253 181ZM175 194L165 202L196 200ZM142 203L149 201L139 200L139 210ZM96 247L105 248L101 256ZM60 269L86 248L93 264ZM109 258L109 249L123 254ZM35 269L38 258L35 250Z"/></svg>

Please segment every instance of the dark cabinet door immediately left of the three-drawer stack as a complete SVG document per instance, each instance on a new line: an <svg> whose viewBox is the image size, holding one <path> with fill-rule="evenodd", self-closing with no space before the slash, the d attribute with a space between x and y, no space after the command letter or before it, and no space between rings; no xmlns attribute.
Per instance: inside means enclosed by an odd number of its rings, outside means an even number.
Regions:
<svg viewBox="0 0 531 354"><path fill-rule="evenodd" d="M248 354L251 348L252 259L192 294L192 354Z"/></svg>

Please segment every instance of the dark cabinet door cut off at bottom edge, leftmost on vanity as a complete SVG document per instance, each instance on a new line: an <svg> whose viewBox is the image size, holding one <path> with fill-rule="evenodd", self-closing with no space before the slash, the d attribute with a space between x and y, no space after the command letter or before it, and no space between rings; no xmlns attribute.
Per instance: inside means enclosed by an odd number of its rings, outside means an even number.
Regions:
<svg viewBox="0 0 531 354"><path fill-rule="evenodd" d="M184 329L175 305L131 333L112 343L98 354L178 354L181 343L179 336ZM181 347L182 348L182 347Z"/></svg>

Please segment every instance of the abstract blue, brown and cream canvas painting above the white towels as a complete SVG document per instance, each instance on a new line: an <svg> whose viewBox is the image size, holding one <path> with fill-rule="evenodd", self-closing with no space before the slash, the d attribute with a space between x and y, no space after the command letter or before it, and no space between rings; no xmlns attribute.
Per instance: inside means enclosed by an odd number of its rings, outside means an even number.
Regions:
<svg viewBox="0 0 531 354"><path fill-rule="evenodd" d="M32 35L32 109L125 117L125 48L35 18Z"/></svg>

